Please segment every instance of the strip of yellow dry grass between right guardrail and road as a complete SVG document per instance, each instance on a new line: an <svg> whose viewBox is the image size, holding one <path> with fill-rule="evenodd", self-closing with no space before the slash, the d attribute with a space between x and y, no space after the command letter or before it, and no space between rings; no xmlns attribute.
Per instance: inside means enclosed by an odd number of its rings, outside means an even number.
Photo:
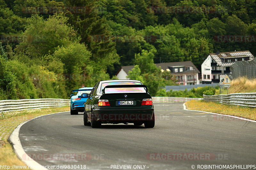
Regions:
<svg viewBox="0 0 256 170"><path fill-rule="evenodd" d="M256 120L256 108L238 105L225 105L217 102L206 102L203 100L191 100L185 103L189 110L200 110L205 112L234 115ZM242 120L241 120L242 121Z"/></svg>

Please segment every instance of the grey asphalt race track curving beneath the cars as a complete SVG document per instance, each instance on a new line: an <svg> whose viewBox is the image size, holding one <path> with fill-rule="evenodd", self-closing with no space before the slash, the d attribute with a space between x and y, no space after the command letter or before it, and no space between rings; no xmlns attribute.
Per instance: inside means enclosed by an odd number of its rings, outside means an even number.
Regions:
<svg viewBox="0 0 256 170"><path fill-rule="evenodd" d="M27 122L19 137L28 155L54 169L131 165L128 169L186 170L192 165L197 169L197 165L255 164L255 122L186 111L182 104L155 103L153 129L133 124L92 129L83 125L82 113L65 112Z"/></svg>

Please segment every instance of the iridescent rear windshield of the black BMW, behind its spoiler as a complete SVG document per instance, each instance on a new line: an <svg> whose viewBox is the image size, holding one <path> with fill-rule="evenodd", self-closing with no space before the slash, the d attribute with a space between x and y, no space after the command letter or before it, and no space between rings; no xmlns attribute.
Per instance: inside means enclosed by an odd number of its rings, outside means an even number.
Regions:
<svg viewBox="0 0 256 170"><path fill-rule="evenodd" d="M108 82L101 84L101 92L107 85L142 85L140 82ZM118 88L106 88L105 93L141 93L146 92L144 87L118 87Z"/></svg>

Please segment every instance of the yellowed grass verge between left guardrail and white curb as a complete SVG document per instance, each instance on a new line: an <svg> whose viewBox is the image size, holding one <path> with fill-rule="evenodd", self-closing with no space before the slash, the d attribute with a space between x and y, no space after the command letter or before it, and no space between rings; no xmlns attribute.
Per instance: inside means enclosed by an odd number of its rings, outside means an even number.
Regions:
<svg viewBox="0 0 256 170"><path fill-rule="evenodd" d="M12 131L22 122L41 115L69 111L70 107L55 107L31 109L13 112L1 112L0 114L0 165L25 166L17 157L9 143L8 138Z"/></svg>

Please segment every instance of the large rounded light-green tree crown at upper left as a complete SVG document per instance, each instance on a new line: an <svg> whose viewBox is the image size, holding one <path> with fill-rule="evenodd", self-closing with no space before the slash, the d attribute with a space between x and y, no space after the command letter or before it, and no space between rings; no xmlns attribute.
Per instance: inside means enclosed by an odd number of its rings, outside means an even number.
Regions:
<svg viewBox="0 0 256 170"><path fill-rule="evenodd" d="M23 36L26 37L17 48L17 54L27 55L29 59L43 59L44 55L52 54L59 46L67 46L78 42L75 30L67 23L68 18L53 15L43 19L38 15L28 18L29 25Z"/></svg>

